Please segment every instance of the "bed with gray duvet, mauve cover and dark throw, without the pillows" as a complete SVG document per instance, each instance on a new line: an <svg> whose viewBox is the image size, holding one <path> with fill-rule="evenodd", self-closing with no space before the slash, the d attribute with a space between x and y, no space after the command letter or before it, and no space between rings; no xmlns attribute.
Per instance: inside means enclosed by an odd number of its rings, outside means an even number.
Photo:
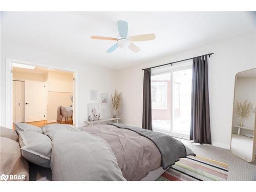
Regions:
<svg viewBox="0 0 256 192"><path fill-rule="evenodd" d="M41 130L38 136L48 136L52 148L50 167L40 172L48 176L35 176L39 169L30 162L36 180L154 181L180 158L195 156L173 137L119 123L50 124Z"/></svg>

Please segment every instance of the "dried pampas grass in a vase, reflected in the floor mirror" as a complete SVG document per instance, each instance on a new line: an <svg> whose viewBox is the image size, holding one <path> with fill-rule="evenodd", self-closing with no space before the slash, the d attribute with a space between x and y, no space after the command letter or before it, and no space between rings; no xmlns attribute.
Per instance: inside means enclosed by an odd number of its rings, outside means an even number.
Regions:
<svg viewBox="0 0 256 192"><path fill-rule="evenodd" d="M239 126L243 126L244 119L247 119L253 110L253 104L251 102L247 103L247 100L243 103L237 101L236 110L240 118Z"/></svg>

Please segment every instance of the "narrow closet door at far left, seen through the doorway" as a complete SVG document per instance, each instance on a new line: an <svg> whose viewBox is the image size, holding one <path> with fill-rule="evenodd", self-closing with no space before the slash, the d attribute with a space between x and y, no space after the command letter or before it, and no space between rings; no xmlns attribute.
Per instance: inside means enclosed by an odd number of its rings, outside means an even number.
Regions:
<svg viewBox="0 0 256 192"><path fill-rule="evenodd" d="M13 122L24 122L24 81L13 81Z"/></svg>

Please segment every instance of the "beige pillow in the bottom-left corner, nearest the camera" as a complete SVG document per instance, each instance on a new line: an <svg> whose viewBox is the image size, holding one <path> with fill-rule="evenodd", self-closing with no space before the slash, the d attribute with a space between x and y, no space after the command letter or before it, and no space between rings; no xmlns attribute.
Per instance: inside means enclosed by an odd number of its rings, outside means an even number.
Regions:
<svg viewBox="0 0 256 192"><path fill-rule="evenodd" d="M29 165L28 161L20 154L18 142L0 137L0 175L16 175L18 178L8 181L29 181Z"/></svg>

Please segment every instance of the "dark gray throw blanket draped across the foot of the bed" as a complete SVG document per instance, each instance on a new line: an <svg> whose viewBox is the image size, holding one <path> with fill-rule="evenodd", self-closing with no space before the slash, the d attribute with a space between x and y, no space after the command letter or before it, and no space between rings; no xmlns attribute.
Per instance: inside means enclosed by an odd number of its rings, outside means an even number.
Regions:
<svg viewBox="0 0 256 192"><path fill-rule="evenodd" d="M105 123L114 125L120 129L127 129L134 131L141 136L144 136L151 141L155 143L158 150L161 153L162 156L162 166L163 169L168 168L169 166L172 166L175 164L175 162L179 161L180 158L184 158L188 155L194 155L196 154L190 150L186 145L184 145L182 142L178 141L177 139L173 138L172 136L160 133L160 132L154 132L150 130L144 130L140 127L134 127L129 125L124 125L121 123Z"/></svg>

